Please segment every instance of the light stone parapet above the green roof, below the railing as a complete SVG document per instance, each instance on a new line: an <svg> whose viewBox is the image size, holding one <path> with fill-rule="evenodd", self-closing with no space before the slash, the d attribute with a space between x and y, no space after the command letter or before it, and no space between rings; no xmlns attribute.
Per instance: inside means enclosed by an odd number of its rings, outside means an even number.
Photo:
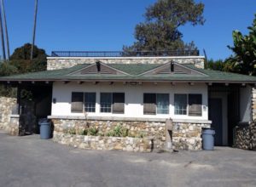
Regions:
<svg viewBox="0 0 256 187"><path fill-rule="evenodd" d="M204 68L204 57L155 57L155 58L61 58L49 57L47 59L47 70L58 70L79 64L93 64L96 61L106 64L165 64L173 60L180 64L193 64L198 68Z"/></svg>

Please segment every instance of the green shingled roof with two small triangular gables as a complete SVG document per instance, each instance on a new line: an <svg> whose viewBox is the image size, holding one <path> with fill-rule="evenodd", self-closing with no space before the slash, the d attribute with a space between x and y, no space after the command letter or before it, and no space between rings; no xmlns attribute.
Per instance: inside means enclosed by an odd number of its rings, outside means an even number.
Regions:
<svg viewBox="0 0 256 187"><path fill-rule="evenodd" d="M194 65L174 64L174 70L182 73L167 72L170 64L102 64L104 71L90 71L94 65L76 65L71 68L26 73L9 77L0 77L0 82L55 82L55 81L84 81L84 82L234 82L256 83L256 77L245 76L224 71L211 71L196 68ZM160 72L165 73L160 73ZM184 73L183 73L184 72Z"/></svg>

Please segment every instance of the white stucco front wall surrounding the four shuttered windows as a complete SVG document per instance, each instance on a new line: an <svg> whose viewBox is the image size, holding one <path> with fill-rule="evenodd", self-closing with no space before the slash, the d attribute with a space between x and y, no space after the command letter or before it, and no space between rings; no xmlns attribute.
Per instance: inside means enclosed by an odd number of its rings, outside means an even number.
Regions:
<svg viewBox="0 0 256 187"><path fill-rule="evenodd" d="M188 83L177 83L172 86L170 83L154 82L144 83L143 85L131 86L124 85L122 82L115 82L109 85L108 82L100 82L94 85L92 82L84 82L78 84L70 82L64 84L62 82L54 82L53 99L56 103L52 103L52 116L84 116L81 113L71 112L71 95L72 92L96 92L96 112L88 113L87 116L117 116L117 117L140 117L140 118L169 118L172 119L194 119L208 120L208 96L207 85L198 83L189 86ZM100 112L100 93L102 92L122 92L125 93L125 114L112 114ZM169 94L170 95L170 113L167 115L143 115L143 94ZM202 116L177 116L174 115L174 94L202 94Z"/></svg>

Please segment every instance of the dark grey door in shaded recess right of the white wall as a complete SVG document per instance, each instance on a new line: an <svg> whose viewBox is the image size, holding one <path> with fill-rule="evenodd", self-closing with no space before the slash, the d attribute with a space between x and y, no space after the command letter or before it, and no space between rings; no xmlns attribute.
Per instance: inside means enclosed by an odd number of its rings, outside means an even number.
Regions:
<svg viewBox="0 0 256 187"><path fill-rule="evenodd" d="M209 100L209 119L212 121L212 128L215 129L214 144L223 145L223 116L222 99L212 98Z"/></svg>

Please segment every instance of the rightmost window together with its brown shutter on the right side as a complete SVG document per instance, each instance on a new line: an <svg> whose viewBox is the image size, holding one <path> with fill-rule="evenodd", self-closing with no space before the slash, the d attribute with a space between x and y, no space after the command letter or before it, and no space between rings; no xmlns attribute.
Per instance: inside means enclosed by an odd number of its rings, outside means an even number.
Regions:
<svg viewBox="0 0 256 187"><path fill-rule="evenodd" d="M174 94L175 115L201 116L201 105L201 94Z"/></svg>

